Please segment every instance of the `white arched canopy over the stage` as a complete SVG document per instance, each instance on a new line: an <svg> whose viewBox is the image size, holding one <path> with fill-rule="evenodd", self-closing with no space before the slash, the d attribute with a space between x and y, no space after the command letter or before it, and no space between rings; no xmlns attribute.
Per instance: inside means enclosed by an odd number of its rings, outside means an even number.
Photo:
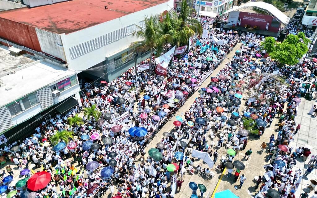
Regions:
<svg viewBox="0 0 317 198"><path fill-rule="evenodd" d="M257 8L259 10L266 11L269 15L273 16L273 18L275 18L280 23L287 24L289 21L289 17L286 16L279 9L275 8L274 5L269 4L269 3L264 3L261 1L249 2L249 3L242 4L240 6L234 6L232 9L227 10L224 14L227 14L231 11L238 11L238 10L249 8L249 7Z"/></svg>

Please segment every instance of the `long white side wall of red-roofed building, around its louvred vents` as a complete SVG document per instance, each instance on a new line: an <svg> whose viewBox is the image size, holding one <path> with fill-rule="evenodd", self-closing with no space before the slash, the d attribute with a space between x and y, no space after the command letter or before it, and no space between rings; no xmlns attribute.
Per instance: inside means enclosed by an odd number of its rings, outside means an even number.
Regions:
<svg viewBox="0 0 317 198"><path fill-rule="evenodd" d="M132 42L140 39L135 36L128 35L73 59L70 54L70 48L81 45L85 42L94 42L93 40L95 38L99 38L103 35L133 24L140 26L142 25L142 21L144 21L145 16L160 15L163 11L170 10L173 7L174 0L169 0L168 2L140 10L138 12L130 13L126 16L82 29L80 31L69 34L61 34L68 67L77 71L88 69L105 61L106 57L110 57L113 54L120 54L120 52L128 48ZM111 9L111 5L108 6L108 9Z"/></svg>

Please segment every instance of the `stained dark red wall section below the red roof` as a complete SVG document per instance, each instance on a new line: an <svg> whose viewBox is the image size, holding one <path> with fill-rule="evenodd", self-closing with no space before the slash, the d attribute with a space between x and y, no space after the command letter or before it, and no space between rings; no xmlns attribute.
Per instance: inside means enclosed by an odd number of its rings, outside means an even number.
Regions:
<svg viewBox="0 0 317 198"><path fill-rule="evenodd" d="M0 37L38 52L42 51L32 26L0 18Z"/></svg>

